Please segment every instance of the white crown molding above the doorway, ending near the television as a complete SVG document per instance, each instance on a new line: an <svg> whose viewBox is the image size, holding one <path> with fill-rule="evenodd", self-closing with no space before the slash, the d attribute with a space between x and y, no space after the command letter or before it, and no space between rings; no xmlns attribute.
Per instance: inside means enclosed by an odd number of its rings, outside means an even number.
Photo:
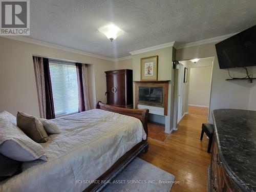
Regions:
<svg viewBox="0 0 256 192"><path fill-rule="evenodd" d="M199 41L195 41L195 42L188 42L187 44L182 44L180 46L177 46L177 49L185 49L185 48L201 46L201 45L205 45L205 44L212 44L213 42L220 42L220 41L225 40L225 39L227 39L233 35L236 35L236 34L238 34L238 33L222 35L222 36L203 39L203 40L199 40Z"/></svg>

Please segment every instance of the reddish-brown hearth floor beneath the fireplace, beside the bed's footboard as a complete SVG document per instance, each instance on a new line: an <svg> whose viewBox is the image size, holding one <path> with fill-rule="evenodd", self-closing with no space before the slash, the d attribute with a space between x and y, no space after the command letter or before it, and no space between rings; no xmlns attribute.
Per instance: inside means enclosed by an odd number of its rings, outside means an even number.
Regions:
<svg viewBox="0 0 256 192"><path fill-rule="evenodd" d="M148 139L157 140L158 142L165 143L170 137L170 134L165 133L164 124L147 122Z"/></svg>

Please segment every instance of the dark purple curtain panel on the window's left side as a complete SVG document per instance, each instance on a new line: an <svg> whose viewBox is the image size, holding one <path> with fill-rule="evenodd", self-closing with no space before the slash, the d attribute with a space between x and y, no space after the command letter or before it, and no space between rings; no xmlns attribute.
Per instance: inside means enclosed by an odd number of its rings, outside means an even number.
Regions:
<svg viewBox="0 0 256 192"><path fill-rule="evenodd" d="M48 58L43 58L44 63L44 76L45 76L45 90L46 90L46 118L54 119L54 104L53 104L53 95L52 95L52 82L51 74L49 68Z"/></svg>

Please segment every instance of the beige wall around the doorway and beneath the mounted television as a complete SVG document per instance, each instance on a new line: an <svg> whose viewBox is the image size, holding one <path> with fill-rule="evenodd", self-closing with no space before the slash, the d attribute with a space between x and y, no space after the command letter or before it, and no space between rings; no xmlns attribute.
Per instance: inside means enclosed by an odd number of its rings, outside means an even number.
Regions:
<svg viewBox="0 0 256 192"><path fill-rule="evenodd" d="M226 69L219 68L219 62L215 49L215 44L206 44L185 49L177 50L177 60L188 60L193 58L214 57L214 66L212 69L211 95L210 95L210 113L209 122L212 123L211 111L215 109L252 109L256 110L255 105L249 103L255 102L255 81L248 83L246 80L226 81L229 78ZM249 72L256 74L256 67L249 67ZM229 70L235 77L243 77L245 70L234 68ZM255 76L255 75L254 75Z"/></svg>

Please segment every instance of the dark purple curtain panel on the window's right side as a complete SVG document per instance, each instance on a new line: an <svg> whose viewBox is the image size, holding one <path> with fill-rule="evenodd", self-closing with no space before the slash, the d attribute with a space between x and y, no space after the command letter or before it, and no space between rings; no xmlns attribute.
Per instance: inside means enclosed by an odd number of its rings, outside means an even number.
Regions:
<svg viewBox="0 0 256 192"><path fill-rule="evenodd" d="M78 100L79 100L79 112L86 111L84 106L83 84L82 84L82 64L76 63L76 74L78 84Z"/></svg>

